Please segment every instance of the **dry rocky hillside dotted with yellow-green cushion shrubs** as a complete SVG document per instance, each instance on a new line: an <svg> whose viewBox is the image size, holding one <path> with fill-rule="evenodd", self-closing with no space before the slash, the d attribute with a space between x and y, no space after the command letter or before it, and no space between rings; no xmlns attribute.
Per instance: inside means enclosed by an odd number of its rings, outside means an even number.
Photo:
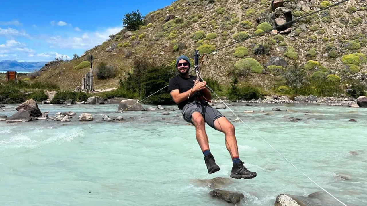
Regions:
<svg viewBox="0 0 367 206"><path fill-rule="evenodd" d="M298 18L336 2L284 0L284 7L291 10L293 18ZM84 56L58 63L39 78L57 82L61 89L74 90L89 70L89 65L81 69L75 69L75 66L93 55L94 68L97 69L98 63L103 61L117 69L114 78L95 78L95 88L117 87L118 79L131 69L132 59L128 58L175 58L181 54L192 57L195 49L201 54L210 52L267 30L269 24L275 27L270 17L273 13L270 3L269 0L177 0L146 15L145 26L140 29L121 30L102 45L86 51ZM335 74L342 80L364 78L367 65L364 56L367 55L366 8L366 1L349 0L294 22L289 34L268 32L210 54L204 62L203 78L213 77L227 84L230 81L228 71L247 69L251 74L240 78L240 82L274 89L284 83L280 73L293 60L308 76L326 79ZM348 54L352 55L345 56ZM284 58L287 66L266 67L271 56ZM247 59L236 65L246 58L255 60ZM175 59L161 61L168 63L172 60Z"/></svg>

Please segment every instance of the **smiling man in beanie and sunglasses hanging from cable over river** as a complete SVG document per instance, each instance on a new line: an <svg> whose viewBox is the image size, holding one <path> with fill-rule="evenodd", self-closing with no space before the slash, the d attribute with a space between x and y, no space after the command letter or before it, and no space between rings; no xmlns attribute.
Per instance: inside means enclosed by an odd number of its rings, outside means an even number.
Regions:
<svg viewBox="0 0 367 206"><path fill-rule="evenodd" d="M217 109L208 105L206 100L210 101L212 96L206 88L206 82L196 81L195 76L189 75L190 67L191 63L187 56L182 55L177 58L176 69L179 74L170 80L168 92L182 111L183 119L195 126L196 140L204 154L208 173L217 172L220 168L210 152L205 122L211 128L225 134L226 148L233 162L230 177L237 179L256 177L256 172L247 170L239 158L235 127Z"/></svg>

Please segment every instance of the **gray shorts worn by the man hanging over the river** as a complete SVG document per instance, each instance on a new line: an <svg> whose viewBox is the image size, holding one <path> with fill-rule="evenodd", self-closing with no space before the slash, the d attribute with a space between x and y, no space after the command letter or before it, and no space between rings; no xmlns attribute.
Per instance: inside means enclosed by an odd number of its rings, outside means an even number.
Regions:
<svg viewBox="0 0 367 206"><path fill-rule="evenodd" d="M213 108L207 104L202 105L200 102L196 102L196 101L186 104L181 111L182 114L183 114L183 111L185 111L185 114L183 115L183 119L185 119L186 122L189 122L192 124L191 122L192 113L199 112L201 115L203 115L204 121L213 129L215 129L214 121L218 119L219 117L224 117L224 115L221 114L216 108Z"/></svg>

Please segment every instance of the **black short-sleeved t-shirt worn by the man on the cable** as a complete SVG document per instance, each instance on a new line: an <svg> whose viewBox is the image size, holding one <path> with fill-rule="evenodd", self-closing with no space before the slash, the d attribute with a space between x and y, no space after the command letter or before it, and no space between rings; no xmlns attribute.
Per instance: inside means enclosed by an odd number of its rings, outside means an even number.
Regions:
<svg viewBox="0 0 367 206"><path fill-rule="evenodd" d="M179 89L180 93L186 92L194 87L194 81L196 80L196 76L189 75L189 78L182 77L181 75L177 75L170 80L170 84L168 85L168 92L171 92L174 89ZM200 81L202 81L200 79ZM190 94L191 95L191 94ZM195 95L189 98L189 102L192 102L196 97L202 96L200 92L196 92ZM187 99L183 102L177 104L178 108L182 110L182 108L187 104Z"/></svg>

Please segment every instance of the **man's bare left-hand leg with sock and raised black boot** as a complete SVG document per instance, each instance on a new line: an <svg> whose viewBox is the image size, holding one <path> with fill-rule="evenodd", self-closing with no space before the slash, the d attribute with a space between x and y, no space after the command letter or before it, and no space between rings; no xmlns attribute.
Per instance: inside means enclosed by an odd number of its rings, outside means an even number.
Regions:
<svg viewBox="0 0 367 206"><path fill-rule="evenodd" d="M201 113L194 111L191 115L191 122L195 126L196 140L199 143L201 151L204 154L204 161L208 169L208 173L218 172L221 168L215 163L215 159L209 150L209 140L205 131L205 121Z"/></svg>

